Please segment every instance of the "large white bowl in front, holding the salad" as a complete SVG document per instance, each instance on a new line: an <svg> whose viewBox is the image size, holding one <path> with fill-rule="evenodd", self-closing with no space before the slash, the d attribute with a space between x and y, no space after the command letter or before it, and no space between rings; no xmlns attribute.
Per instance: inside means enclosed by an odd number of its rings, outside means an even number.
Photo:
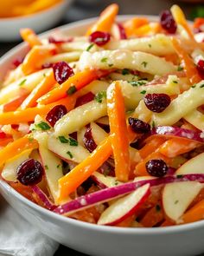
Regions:
<svg viewBox="0 0 204 256"><path fill-rule="evenodd" d="M131 16L120 16L125 20ZM149 16L150 19L156 17ZM60 28L68 35L82 34L93 19ZM48 36L50 31L43 36ZM0 60L1 73L9 69L16 56L26 52L25 43L12 49ZM123 228L97 226L52 213L22 197L5 181L0 181L3 197L30 224L50 238L88 255L97 256L179 256L204 252L204 220L182 226Z"/></svg>

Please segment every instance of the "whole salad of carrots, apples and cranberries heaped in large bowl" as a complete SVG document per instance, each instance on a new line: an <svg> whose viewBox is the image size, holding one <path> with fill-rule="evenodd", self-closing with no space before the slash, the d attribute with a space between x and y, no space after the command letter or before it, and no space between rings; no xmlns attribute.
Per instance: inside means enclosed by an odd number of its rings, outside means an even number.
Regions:
<svg viewBox="0 0 204 256"><path fill-rule="evenodd" d="M84 36L22 29L0 91L1 177L41 207L98 225L204 217L204 19L174 5Z"/></svg>

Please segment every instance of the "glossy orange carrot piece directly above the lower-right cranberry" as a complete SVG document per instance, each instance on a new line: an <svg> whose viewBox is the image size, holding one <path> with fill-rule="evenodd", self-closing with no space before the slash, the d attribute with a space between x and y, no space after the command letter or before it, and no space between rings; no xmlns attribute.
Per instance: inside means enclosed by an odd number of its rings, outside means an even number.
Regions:
<svg viewBox="0 0 204 256"><path fill-rule="evenodd" d="M175 157L178 154L187 153L194 148L197 148L201 143L191 141L185 138L174 138L163 143L159 148L159 152L167 157Z"/></svg>

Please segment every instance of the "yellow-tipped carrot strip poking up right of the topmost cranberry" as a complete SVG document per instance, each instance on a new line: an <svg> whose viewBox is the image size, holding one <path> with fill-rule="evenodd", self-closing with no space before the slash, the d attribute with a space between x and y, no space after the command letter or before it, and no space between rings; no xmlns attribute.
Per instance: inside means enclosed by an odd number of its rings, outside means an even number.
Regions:
<svg viewBox="0 0 204 256"><path fill-rule="evenodd" d="M184 30L186 30L186 32L188 33L189 38L194 41L194 34L188 27L188 22L182 9L178 5L174 4L170 10L175 19L175 23L182 25Z"/></svg>

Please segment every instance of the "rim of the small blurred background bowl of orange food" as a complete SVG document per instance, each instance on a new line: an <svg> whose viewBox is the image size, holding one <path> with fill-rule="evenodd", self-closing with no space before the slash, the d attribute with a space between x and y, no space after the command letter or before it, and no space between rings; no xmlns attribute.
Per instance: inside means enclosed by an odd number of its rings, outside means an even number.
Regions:
<svg viewBox="0 0 204 256"><path fill-rule="evenodd" d="M8 16L8 17L0 17L0 23L3 23L3 22L9 22L9 21L15 21L15 20L23 20L23 19L28 19L29 17L32 17L32 16L40 16L41 14L45 13L45 12L48 12L49 10L53 10L54 8L57 8L58 6L62 5L62 4L67 4L66 3L67 0L62 0L61 2L59 3L54 3L54 5L51 5L49 6L47 9L44 9L44 10L38 10L34 13L30 13L28 15L25 15L25 16Z"/></svg>

